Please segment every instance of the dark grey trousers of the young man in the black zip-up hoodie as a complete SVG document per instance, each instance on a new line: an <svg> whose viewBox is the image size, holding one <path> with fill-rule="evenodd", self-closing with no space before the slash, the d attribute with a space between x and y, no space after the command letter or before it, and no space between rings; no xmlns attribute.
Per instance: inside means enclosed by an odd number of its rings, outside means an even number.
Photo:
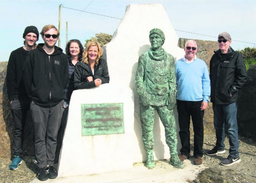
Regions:
<svg viewBox="0 0 256 183"><path fill-rule="evenodd" d="M31 102L30 113L34 123L34 144L38 167L54 164L63 105L63 100L54 106L39 106Z"/></svg>

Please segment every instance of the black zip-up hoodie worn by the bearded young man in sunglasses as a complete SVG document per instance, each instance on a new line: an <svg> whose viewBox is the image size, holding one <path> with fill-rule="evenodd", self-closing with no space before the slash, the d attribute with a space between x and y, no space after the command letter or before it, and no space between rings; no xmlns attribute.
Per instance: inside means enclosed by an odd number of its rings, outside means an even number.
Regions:
<svg viewBox="0 0 256 183"><path fill-rule="evenodd" d="M64 98L64 88L68 81L68 59L62 49L55 46L48 55L38 44L27 56L23 82L27 94L37 105L56 105Z"/></svg>

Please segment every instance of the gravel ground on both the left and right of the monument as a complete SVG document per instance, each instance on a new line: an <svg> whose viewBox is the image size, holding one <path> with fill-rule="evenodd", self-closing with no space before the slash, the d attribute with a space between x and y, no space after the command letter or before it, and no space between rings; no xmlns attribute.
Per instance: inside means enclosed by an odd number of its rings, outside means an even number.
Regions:
<svg viewBox="0 0 256 183"><path fill-rule="evenodd" d="M192 140L193 139L191 139L191 150L193 150ZM203 144L204 152L211 150L214 147L215 142L215 135L205 135ZM256 142L253 142L252 139L240 137L239 144L239 152L241 158L240 163L234 164L232 166L221 166L219 164L221 160L228 156L229 143L228 138L226 138L226 153L218 154L217 156L203 156L203 164L206 167L209 167L209 170L211 171L205 170L199 173L197 179L193 181L188 180L188 182L217 182L217 180L214 180L214 178L211 177L211 174L214 174L219 179L221 179L222 181L220 182L225 182L223 181L223 179L225 179L227 183L256 182ZM33 159L33 156L25 156L18 170L9 171L8 165L11 162L11 160L0 158L0 182L21 183L32 181L36 177L36 165L33 163ZM227 176L229 177L227 178Z"/></svg>

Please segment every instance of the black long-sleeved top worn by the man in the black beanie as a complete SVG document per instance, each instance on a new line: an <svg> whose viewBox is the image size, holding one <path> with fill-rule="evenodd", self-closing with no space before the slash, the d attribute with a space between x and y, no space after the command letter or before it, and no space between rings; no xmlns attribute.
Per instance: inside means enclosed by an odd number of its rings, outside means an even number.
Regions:
<svg viewBox="0 0 256 183"><path fill-rule="evenodd" d="M27 55L28 51L23 47L11 52L6 73L7 94L10 102L15 98L28 99L22 80L22 68L25 64Z"/></svg>

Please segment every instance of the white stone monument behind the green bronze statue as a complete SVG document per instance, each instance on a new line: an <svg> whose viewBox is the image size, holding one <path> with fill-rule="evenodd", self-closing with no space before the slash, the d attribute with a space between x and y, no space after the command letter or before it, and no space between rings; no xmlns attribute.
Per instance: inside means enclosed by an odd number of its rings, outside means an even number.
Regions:
<svg viewBox="0 0 256 183"><path fill-rule="evenodd" d="M161 4L128 5L111 42L103 47L110 84L75 90L72 94L59 158L59 177L132 168L133 163L146 160L135 75L139 56L151 47L149 32L153 28L164 32L163 48L168 53L177 59L183 57L183 49L177 47L177 34ZM120 102L124 103L124 134L81 136L81 104ZM164 127L155 114L155 160L163 160L170 158L169 148L165 143ZM174 115L178 119L176 109ZM179 128L178 122L176 124Z"/></svg>

